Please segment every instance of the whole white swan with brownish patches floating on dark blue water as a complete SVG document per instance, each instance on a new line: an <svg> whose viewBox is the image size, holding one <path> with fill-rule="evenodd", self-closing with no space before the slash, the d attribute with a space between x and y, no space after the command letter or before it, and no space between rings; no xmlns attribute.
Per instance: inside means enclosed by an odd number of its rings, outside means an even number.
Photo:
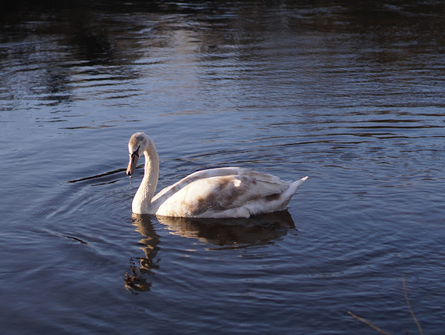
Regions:
<svg viewBox="0 0 445 335"><path fill-rule="evenodd" d="M159 177L159 156L154 142L143 132L130 138L127 175L145 155L145 175L133 199L133 213L161 216L237 218L286 209L307 177L284 182L275 175L238 167L209 169L188 175L154 198Z"/></svg>

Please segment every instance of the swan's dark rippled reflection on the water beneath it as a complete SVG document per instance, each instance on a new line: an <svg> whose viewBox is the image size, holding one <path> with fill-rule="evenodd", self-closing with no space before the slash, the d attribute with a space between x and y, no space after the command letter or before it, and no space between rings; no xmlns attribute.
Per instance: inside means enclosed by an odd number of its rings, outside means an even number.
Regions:
<svg viewBox="0 0 445 335"><path fill-rule="evenodd" d="M248 248L274 243L289 230L296 229L292 216L287 211L251 218L170 218L132 214L131 222L136 226L136 231L144 237L139 242L145 257L138 257L139 261L130 259L130 273L126 273L123 279L125 288L131 293L149 291L152 283L147 281L147 275L154 275L152 269L159 268L160 259L155 257L161 249L161 237L154 230L153 220L166 225L172 234L218 246L211 250Z"/></svg>

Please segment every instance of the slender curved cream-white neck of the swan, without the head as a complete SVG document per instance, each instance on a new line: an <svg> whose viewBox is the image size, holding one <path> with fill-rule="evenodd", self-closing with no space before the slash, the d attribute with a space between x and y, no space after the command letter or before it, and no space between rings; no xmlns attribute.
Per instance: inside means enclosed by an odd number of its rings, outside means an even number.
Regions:
<svg viewBox="0 0 445 335"><path fill-rule="evenodd" d="M133 199L132 210L136 214L149 214L149 207L152 203L154 191L159 178L159 155L153 141L149 140L149 145L144 151L145 172L136 196Z"/></svg>

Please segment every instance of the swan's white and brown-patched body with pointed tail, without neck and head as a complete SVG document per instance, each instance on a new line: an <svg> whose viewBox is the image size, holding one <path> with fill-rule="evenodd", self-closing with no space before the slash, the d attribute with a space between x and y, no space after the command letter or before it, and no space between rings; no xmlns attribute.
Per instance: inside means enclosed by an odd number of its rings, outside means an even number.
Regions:
<svg viewBox="0 0 445 335"><path fill-rule="evenodd" d="M181 217L248 217L285 209L305 180L284 182L267 173L236 167L188 175L152 199L150 212Z"/></svg>

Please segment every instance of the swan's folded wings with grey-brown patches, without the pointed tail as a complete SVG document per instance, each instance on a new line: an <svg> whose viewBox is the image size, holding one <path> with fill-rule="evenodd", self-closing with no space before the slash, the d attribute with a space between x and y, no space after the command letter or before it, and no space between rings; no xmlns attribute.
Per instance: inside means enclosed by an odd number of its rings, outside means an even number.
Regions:
<svg viewBox="0 0 445 335"><path fill-rule="evenodd" d="M220 170L220 169L217 169ZM225 171L200 171L204 178L194 178L165 198L175 185L163 193L158 200L163 200L155 213L164 216L215 216L217 213L231 211L230 216L249 216L246 205L260 199L275 200L289 188L289 183L279 178L246 169L236 169L237 174L214 175L229 173ZM208 173L208 174L207 174ZM210 177L205 177L211 175ZM190 175L191 178L193 175ZM196 177L196 176L195 176ZM181 182L179 182L180 184ZM178 185L177 185L178 186ZM154 203L152 203L154 207ZM239 213L238 213L239 212ZM226 212L229 214L228 212Z"/></svg>

